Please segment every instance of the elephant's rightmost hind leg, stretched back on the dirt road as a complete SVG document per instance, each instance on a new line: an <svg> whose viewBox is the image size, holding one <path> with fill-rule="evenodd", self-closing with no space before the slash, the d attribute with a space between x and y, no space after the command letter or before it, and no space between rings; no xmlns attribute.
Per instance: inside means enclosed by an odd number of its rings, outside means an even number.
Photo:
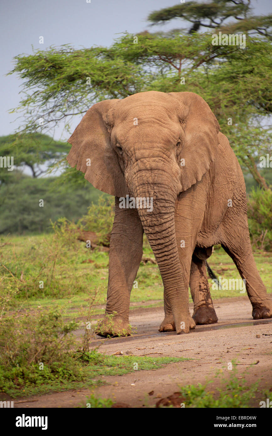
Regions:
<svg viewBox="0 0 272 436"><path fill-rule="evenodd" d="M252 317L255 320L272 318L272 300L266 292L253 257L246 218L243 226L235 223L235 228L228 228L227 235L225 228L225 241L221 245L234 261L241 278L245 280L247 294L252 304Z"/></svg>

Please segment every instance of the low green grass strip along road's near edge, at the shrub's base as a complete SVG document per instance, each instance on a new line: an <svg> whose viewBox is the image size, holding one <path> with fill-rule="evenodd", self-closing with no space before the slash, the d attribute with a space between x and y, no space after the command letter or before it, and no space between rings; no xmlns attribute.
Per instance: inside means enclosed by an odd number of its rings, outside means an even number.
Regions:
<svg viewBox="0 0 272 436"><path fill-rule="evenodd" d="M0 367L0 391L12 398L18 396L42 395L47 392L64 392L69 389L88 388L103 385L107 375L124 375L137 371L156 370L172 362L188 360L186 358L151 357L151 356L107 356L95 350L85 353L83 357L71 355L73 366L76 362L77 373L67 369L67 365L39 369L38 364L31 364L7 371ZM69 368L70 366L68 366Z"/></svg>

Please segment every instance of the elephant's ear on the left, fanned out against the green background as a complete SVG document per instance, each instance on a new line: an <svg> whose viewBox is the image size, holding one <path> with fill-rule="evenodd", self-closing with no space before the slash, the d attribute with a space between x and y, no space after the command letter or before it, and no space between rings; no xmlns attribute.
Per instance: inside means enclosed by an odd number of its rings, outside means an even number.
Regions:
<svg viewBox="0 0 272 436"><path fill-rule="evenodd" d="M114 107L118 100L93 105L70 136L68 163L85 173L95 188L115 197L125 197L128 189L117 155L110 145Z"/></svg>

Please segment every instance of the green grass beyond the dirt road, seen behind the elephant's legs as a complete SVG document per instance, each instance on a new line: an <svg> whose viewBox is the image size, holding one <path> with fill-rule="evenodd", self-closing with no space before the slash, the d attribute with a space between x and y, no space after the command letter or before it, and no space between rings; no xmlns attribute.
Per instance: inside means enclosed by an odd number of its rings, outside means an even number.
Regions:
<svg viewBox="0 0 272 436"><path fill-rule="evenodd" d="M58 250L60 258L54 265L53 235L39 236L12 236L11 245L5 245L0 255L0 263L18 280L21 278L22 285L26 283L24 291L19 293L26 298L29 307L45 306L52 307L56 300L60 306L65 305L71 313L79 316L79 311L85 306L86 293L94 293L99 290L96 304L105 304L107 297L108 264L107 252L86 249L83 242L73 241L72 246L67 247L55 242L55 251ZM66 248L65 248L66 247ZM47 250L52 250L51 255ZM40 258L39 258L40 256ZM154 259L151 248L144 238L144 256ZM42 261L47 259L47 269ZM272 292L272 253L255 252L255 261L261 277L269 293ZM226 279L239 279L239 273L222 248L214 250L209 259L210 267L217 276ZM54 265L54 271L52 271ZM2 267L1 272L8 275ZM39 280L44 280L44 288L39 289ZM162 279L158 266L148 262L141 262L136 277L138 288L132 288L131 302L141 303L151 300L163 300ZM209 279L210 287L212 285ZM239 290L212 290L213 299L222 297L246 298ZM192 301L189 296L189 301ZM152 304L152 303L151 303ZM98 310L97 313L103 310Z"/></svg>

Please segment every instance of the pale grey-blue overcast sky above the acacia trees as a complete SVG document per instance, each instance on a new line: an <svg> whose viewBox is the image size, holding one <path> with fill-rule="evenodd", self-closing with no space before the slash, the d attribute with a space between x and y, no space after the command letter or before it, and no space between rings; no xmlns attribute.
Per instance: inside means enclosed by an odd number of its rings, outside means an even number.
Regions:
<svg viewBox="0 0 272 436"><path fill-rule="evenodd" d="M186 0L185 0L186 1ZM75 48L92 45L109 46L122 32L135 34L143 30L170 30L186 27L179 19L150 28L146 18L152 10L178 4L178 0L1 0L0 61L0 136L12 133L19 125L17 114L8 110L20 101L20 84L16 75L5 76L12 69L17 54L31 54L34 49L51 45L71 44ZM272 0L252 0L256 15L272 13ZM44 44L39 44L39 36ZM72 127L81 117L75 116ZM55 130L55 139L67 139L62 128Z"/></svg>

